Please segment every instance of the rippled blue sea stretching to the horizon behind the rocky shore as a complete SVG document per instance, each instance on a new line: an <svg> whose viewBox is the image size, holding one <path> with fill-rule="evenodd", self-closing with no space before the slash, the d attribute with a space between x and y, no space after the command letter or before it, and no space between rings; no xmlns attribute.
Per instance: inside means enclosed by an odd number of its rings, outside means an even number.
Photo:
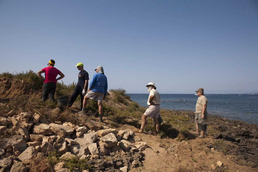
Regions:
<svg viewBox="0 0 258 172"><path fill-rule="evenodd" d="M127 94L140 106L148 107L149 94ZM205 94L209 115L258 124L258 94ZM195 94L160 94L162 109L195 111Z"/></svg>

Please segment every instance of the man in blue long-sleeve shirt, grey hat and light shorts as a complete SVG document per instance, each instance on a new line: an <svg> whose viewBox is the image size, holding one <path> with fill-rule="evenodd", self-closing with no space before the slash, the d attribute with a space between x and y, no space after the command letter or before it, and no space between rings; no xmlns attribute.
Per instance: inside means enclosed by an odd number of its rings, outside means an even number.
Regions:
<svg viewBox="0 0 258 172"><path fill-rule="evenodd" d="M85 108L87 106L88 99L93 99L94 101L98 101L99 106L99 121L103 122L102 120L102 112L103 112L103 105L102 101L105 99L108 90L108 81L107 77L104 75L104 70L102 66L98 66L95 69L96 73L93 75L90 87L87 91L87 94L84 96L83 99L83 108L82 111L79 113L85 114Z"/></svg>

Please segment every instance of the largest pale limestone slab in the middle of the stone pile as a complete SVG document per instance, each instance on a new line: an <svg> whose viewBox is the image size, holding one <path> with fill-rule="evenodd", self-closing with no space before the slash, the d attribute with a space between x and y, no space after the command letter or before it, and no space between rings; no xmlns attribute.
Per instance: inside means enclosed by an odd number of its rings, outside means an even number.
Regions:
<svg viewBox="0 0 258 172"><path fill-rule="evenodd" d="M83 154L87 154L88 146L91 143L94 143L98 138L98 134L96 132L83 134L79 138L76 138L75 141L79 144L79 153L77 154L78 157L82 156ZM74 147L73 145L70 147Z"/></svg>

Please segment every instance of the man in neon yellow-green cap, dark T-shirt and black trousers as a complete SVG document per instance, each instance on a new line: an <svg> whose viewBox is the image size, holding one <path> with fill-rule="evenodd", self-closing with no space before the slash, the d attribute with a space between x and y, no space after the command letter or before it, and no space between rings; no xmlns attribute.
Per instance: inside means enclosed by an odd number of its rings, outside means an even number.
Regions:
<svg viewBox="0 0 258 172"><path fill-rule="evenodd" d="M76 98L78 97L78 95L80 95L80 98L81 98L80 110L82 110L83 97L85 96L86 91L88 89L89 74L83 69L82 63L78 63L76 67L80 71L78 75L78 83L69 99L68 107L71 107L74 101L76 100Z"/></svg>

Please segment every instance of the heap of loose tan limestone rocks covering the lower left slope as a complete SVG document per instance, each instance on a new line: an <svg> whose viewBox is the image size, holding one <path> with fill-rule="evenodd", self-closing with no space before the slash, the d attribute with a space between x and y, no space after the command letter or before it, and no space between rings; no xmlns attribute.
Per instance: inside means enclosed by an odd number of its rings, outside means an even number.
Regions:
<svg viewBox="0 0 258 172"><path fill-rule="evenodd" d="M62 124L60 121L50 124L45 116L36 113L0 113L0 132L6 130L14 135L0 137L0 172L27 171L29 169L23 161L50 151L60 154L62 159L94 159L113 156L115 152L143 151L147 148L146 142L130 141L135 134L128 129L118 131L95 121L89 121L85 126L75 126L70 122ZM53 170L64 171L63 168L64 163L61 162Z"/></svg>

